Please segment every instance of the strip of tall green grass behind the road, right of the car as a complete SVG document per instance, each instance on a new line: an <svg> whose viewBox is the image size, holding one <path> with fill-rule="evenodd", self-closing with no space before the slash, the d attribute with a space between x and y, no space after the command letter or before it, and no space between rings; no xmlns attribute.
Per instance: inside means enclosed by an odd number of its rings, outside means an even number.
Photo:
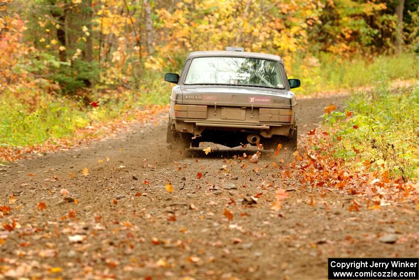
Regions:
<svg viewBox="0 0 419 280"><path fill-rule="evenodd" d="M318 58L298 57L292 61L290 78L301 79L301 87L295 92L306 95L370 85L376 77L388 80L419 79L418 65L419 56L413 53L382 55L372 59L360 56L346 59L321 53Z"/></svg>

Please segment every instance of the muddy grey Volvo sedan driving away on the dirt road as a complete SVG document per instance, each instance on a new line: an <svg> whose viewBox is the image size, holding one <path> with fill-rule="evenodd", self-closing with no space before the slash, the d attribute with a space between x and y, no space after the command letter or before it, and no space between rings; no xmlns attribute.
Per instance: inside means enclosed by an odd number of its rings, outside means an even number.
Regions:
<svg viewBox="0 0 419 280"><path fill-rule="evenodd" d="M169 73L165 80L177 83L170 98L169 143L296 147L297 102L290 89L300 81L287 80L279 56L195 51L180 77Z"/></svg>

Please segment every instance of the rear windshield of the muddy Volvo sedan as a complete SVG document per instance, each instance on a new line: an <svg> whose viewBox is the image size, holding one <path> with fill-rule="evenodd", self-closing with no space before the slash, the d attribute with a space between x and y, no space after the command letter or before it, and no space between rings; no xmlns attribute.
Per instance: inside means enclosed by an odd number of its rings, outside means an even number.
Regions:
<svg viewBox="0 0 419 280"><path fill-rule="evenodd" d="M246 57L194 58L184 83L285 87L278 62Z"/></svg>

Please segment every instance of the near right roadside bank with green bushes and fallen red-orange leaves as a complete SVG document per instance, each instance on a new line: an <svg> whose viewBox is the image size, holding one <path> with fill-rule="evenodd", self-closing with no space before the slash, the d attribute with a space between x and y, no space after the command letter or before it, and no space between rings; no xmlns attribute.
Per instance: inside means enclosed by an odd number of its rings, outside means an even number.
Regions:
<svg viewBox="0 0 419 280"><path fill-rule="evenodd" d="M352 94L344 112L330 104L323 125L302 138L291 174L306 187L354 195L351 211L403 200L419 209L418 107L418 85L390 90L385 82Z"/></svg>

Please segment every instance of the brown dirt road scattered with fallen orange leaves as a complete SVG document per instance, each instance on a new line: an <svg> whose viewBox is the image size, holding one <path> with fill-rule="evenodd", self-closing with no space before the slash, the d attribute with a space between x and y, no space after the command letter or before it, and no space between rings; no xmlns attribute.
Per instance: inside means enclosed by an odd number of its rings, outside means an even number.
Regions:
<svg viewBox="0 0 419 280"><path fill-rule="evenodd" d="M343 98L300 101L300 134L330 102L342 108ZM273 153L257 164L238 158L251 149L185 157L166 149L165 135L162 120L2 166L0 205L11 210L1 218L0 278L327 279L328 257L418 257L413 204L349 212L354 196L322 197L299 178L281 185L272 162L287 162ZM280 211L276 187L289 194Z"/></svg>

